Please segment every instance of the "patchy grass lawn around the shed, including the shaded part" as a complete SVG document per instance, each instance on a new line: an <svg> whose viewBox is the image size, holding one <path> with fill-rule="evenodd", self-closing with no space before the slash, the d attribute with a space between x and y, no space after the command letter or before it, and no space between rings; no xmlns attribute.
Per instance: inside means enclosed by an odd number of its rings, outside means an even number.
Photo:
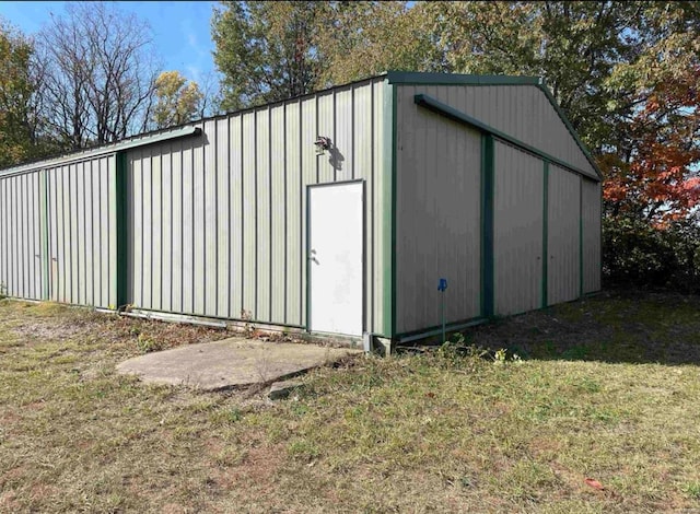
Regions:
<svg viewBox="0 0 700 514"><path fill-rule="evenodd" d="M700 511L700 299L606 293L262 392L115 364L225 331L0 302L0 512ZM599 482L597 489L585 482Z"/></svg>

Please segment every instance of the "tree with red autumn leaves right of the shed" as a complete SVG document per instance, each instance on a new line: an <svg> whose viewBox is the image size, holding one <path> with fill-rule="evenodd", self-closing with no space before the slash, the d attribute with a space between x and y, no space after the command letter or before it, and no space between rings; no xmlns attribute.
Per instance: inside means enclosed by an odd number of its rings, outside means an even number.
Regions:
<svg viewBox="0 0 700 514"><path fill-rule="evenodd" d="M626 152L600 157L604 195L608 215L663 225L686 218L700 201L700 66L643 95L629 122Z"/></svg>

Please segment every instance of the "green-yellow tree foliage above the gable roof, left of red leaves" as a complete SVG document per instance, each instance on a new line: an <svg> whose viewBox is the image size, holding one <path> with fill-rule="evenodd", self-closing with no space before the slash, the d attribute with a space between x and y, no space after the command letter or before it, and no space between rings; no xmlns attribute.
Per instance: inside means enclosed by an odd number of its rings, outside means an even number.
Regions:
<svg viewBox="0 0 700 514"><path fill-rule="evenodd" d="M427 11L452 71L545 77L594 153L629 148L640 93L697 62L692 2L430 2Z"/></svg>

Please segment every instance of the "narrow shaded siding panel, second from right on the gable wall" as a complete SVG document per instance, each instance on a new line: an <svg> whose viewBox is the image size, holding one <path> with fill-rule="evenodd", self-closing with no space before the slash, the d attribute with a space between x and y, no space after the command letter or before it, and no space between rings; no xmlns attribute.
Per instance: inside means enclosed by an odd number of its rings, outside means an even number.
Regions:
<svg viewBox="0 0 700 514"><path fill-rule="evenodd" d="M581 177L549 166L547 300L568 302L581 293Z"/></svg>

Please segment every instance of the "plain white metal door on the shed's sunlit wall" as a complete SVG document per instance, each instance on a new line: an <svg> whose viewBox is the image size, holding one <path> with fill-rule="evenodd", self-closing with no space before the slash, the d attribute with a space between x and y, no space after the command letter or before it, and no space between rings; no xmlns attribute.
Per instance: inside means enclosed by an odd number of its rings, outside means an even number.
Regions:
<svg viewBox="0 0 700 514"><path fill-rule="evenodd" d="M363 184L308 192L310 329L362 335Z"/></svg>

